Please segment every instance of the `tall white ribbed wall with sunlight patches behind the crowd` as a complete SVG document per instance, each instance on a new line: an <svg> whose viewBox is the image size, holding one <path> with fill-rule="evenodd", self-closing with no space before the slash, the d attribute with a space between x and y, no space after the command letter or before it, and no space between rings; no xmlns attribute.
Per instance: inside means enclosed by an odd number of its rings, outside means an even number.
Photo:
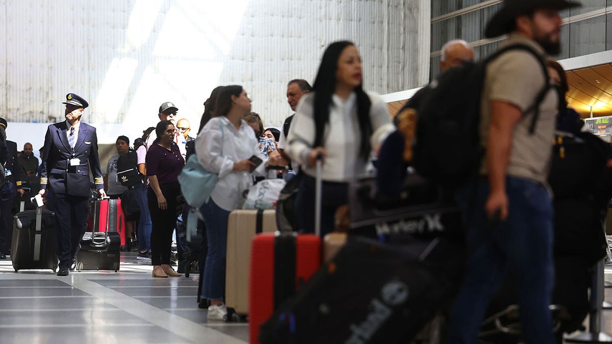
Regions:
<svg viewBox="0 0 612 344"><path fill-rule="evenodd" d="M429 31L427 0L0 0L0 116L59 121L75 92L114 142L166 101L198 127L215 86L242 84L280 127L286 82L312 82L330 42L353 40L365 88L384 94L427 82Z"/></svg>

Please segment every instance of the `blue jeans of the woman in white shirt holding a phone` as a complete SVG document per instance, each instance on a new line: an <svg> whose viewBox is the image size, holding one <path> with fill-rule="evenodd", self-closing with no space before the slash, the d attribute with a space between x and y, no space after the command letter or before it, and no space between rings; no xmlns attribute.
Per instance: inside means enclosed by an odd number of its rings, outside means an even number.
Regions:
<svg viewBox="0 0 612 344"><path fill-rule="evenodd" d="M209 300L222 300L225 295L225 255L230 212L219 208L212 198L208 203L202 204L200 212L204 217L208 239L201 297Z"/></svg>

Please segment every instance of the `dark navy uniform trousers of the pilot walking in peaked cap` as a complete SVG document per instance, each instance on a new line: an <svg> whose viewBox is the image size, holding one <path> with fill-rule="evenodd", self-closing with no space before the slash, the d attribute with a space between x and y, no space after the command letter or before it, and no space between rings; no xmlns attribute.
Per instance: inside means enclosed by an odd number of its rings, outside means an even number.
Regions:
<svg viewBox="0 0 612 344"><path fill-rule="evenodd" d="M53 193L52 209L55 212L59 266L67 267L78 253L81 239L87 230L89 197Z"/></svg>

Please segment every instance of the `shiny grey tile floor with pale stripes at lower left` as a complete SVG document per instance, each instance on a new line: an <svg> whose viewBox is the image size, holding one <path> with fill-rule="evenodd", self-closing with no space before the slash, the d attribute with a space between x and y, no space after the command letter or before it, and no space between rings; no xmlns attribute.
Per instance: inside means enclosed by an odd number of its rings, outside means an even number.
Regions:
<svg viewBox="0 0 612 344"><path fill-rule="evenodd" d="M198 275L154 279L122 252L121 271L58 277L0 261L0 343L247 343L244 323L207 323Z"/></svg>

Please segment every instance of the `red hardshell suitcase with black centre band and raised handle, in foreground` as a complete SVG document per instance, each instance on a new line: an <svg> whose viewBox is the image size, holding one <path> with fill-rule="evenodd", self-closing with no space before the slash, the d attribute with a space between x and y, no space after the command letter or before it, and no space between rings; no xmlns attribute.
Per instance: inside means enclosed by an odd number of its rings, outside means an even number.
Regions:
<svg viewBox="0 0 612 344"><path fill-rule="evenodd" d="M248 281L249 343L259 326L321 266L322 156L316 162L315 234L261 233L253 238Z"/></svg>

